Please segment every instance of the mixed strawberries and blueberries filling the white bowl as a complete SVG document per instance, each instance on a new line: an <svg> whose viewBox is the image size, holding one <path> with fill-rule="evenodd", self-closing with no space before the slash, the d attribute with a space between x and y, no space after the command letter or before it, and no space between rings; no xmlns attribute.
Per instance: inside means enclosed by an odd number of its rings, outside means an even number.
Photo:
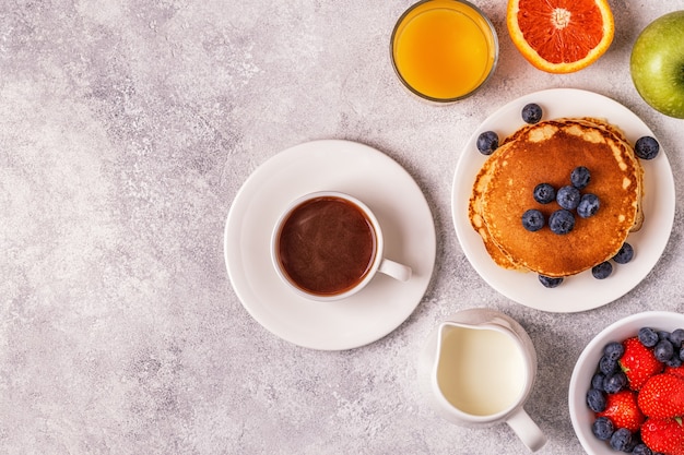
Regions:
<svg viewBox="0 0 684 455"><path fill-rule="evenodd" d="M684 330L642 327L604 346L587 406L615 451L684 455Z"/></svg>

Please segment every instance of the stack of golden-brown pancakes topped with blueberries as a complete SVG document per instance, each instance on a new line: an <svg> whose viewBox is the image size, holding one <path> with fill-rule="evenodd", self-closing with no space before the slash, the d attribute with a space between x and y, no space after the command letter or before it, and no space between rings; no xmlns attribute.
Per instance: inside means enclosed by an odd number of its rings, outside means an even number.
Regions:
<svg viewBox="0 0 684 455"><path fill-rule="evenodd" d="M599 197L595 215L575 214L575 228L565 235L547 226L559 209L540 204L534 187L550 183L556 191L570 184L570 173L585 166L591 180L582 193ZM575 275L613 258L632 231L641 227L641 165L623 133L592 118L564 118L527 125L490 156L475 178L469 217L492 259L502 267L533 271L549 277ZM536 208L546 226L528 231L522 214Z"/></svg>

